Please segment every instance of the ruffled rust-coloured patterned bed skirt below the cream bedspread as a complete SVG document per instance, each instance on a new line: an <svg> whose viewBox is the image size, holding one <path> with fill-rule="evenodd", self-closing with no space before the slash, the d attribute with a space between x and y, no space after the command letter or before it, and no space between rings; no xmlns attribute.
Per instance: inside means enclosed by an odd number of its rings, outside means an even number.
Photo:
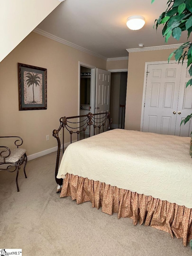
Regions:
<svg viewBox="0 0 192 256"><path fill-rule="evenodd" d="M145 222L146 226L166 231L172 237L183 238L184 246L192 239L192 209L185 206L69 173L60 194L60 197L67 196L78 204L91 201L92 207L102 206L102 212L109 215L116 212L118 218L131 218L134 225Z"/></svg>

